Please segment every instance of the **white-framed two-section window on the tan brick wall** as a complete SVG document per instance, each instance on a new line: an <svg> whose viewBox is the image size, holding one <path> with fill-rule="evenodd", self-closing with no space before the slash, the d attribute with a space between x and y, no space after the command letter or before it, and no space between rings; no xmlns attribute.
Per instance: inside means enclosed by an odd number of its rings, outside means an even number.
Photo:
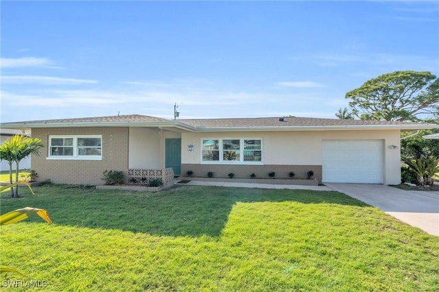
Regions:
<svg viewBox="0 0 439 292"><path fill-rule="evenodd" d="M102 159L102 136L49 136L50 159Z"/></svg>

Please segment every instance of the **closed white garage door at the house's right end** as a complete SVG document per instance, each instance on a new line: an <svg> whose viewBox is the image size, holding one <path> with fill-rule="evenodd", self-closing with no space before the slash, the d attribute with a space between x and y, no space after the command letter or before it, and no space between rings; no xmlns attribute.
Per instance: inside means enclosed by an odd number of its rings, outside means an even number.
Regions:
<svg viewBox="0 0 439 292"><path fill-rule="evenodd" d="M322 182L383 183L381 140L328 140L322 149Z"/></svg>

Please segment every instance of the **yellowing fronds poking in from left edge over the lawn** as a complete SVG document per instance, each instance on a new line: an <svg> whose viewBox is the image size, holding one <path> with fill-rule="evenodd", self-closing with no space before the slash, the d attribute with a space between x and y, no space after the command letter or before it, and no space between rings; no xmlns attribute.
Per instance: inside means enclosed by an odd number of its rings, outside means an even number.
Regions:
<svg viewBox="0 0 439 292"><path fill-rule="evenodd" d="M34 191L32 191L32 188L30 187L30 185L27 184L27 182L22 182L22 181L15 182L14 184L9 184L7 186L1 186L0 192L3 192L5 190L7 190L8 188L12 188L12 187L17 186L19 184L25 184L25 186L27 186L29 188L29 190L31 191L32 195L35 195ZM0 226L12 224L12 223L17 223L19 221L22 221L22 220L28 218L32 214L38 215L39 217L43 218L48 223L52 222L50 217L49 217L49 214L47 213L47 210L25 207L25 208L16 209L16 210L7 212L3 215L0 215ZM20 271L17 271L16 269L12 269L10 267L0 267L0 273L19 273L21 276L25 276Z"/></svg>

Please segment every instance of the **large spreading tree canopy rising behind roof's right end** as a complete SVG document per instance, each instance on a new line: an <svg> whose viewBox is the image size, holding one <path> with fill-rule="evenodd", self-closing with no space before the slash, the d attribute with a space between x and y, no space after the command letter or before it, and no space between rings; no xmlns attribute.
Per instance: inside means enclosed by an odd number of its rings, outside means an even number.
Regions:
<svg viewBox="0 0 439 292"><path fill-rule="evenodd" d="M346 93L346 99L357 119L425 120L438 114L439 79L430 72L396 71L368 80Z"/></svg>

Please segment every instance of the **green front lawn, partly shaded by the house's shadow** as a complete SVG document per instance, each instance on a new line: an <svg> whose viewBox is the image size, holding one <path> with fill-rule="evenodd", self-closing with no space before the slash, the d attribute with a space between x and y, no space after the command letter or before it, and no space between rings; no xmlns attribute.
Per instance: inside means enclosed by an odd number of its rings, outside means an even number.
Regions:
<svg viewBox="0 0 439 292"><path fill-rule="evenodd" d="M42 291L439 290L438 237L341 193L34 191L3 194L1 213L45 208L54 223L2 226L0 258L27 274L4 279Z"/></svg>

